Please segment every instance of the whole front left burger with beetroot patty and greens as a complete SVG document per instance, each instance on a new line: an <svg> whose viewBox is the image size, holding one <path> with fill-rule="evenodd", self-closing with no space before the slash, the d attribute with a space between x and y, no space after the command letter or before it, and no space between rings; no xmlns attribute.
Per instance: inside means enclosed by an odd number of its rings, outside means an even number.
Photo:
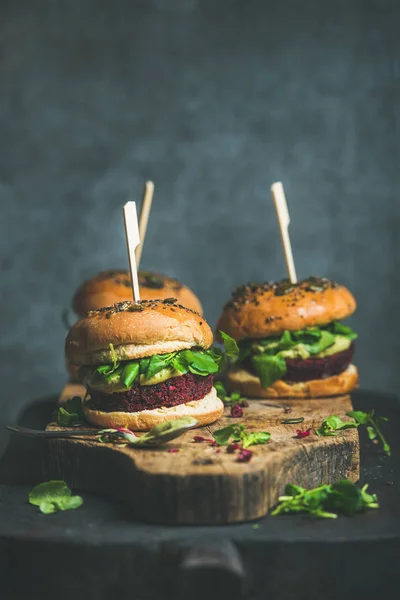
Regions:
<svg viewBox="0 0 400 600"><path fill-rule="evenodd" d="M80 367L89 422L148 430L170 419L207 425L221 416L213 387L221 353L212 343L203 317L166 298L88 312L70 329L65 351Z"/></svg>

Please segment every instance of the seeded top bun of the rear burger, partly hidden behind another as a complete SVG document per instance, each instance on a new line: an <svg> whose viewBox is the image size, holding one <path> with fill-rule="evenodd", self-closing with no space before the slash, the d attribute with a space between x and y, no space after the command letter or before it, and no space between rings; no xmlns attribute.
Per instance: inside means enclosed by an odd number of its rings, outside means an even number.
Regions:
<svg viewBox="0 0 400 600"><path fill-rule="evenodd" d="M173 297L182 306L203 314L200 300L177 279L150 271L139 271L138 278L142 300ZM72 308L78 316L83 317L89 310L125 300L133 300L129 271L102 271L79 287L72 300Z"/></svg>

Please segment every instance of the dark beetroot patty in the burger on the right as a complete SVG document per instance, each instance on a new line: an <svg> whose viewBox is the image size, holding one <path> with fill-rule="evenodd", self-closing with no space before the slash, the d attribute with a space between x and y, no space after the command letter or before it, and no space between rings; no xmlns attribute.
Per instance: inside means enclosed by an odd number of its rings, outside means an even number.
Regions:
<svg viewBox="0 0 400 600"><path fill-rule="evenodd" d="M311 381L312 379L326 379L339 375L351 364L354 354L354 345L347 350L336 352L324 358L307 358L305 360L286 358L287 371L282 377L284 381Z"/></svg>

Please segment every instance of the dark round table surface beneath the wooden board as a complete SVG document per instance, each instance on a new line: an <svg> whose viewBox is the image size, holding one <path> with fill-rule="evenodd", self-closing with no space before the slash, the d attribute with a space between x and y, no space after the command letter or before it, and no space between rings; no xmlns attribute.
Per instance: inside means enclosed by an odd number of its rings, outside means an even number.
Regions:
<svg viewBox="0 0 400 600"><path fill-rule="evenodd" d="M337 520L165 527L132 522L125 506L87 493L79 510L41 515L27 502L36 442L13 438L0 463L1 597L368 600L391 593L400 557L400 404L365 391L353 404L389 417L392 456L360 431L360 483L369 483L380 508ZM20 422L41 426L52 406L35 404ZM21 460L31 461L32 481L15 485Z"/></svg>

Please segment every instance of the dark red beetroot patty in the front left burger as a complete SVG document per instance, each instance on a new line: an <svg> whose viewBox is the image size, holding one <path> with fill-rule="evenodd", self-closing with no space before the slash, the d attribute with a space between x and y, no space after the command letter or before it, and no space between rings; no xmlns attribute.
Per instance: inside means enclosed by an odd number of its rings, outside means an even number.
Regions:
<svg viewBox="0 0 400 600"><path fill-rule="evenodd" d="M88 406L91 410L103 412L138 412L159 408L160 406L177 406L192 400L201 400L212 388L213 376L193 375L187 373L180 377L171 377L157 385L135 385L126 392L105 394L97 390L89 390L91 399Z"/></svg>

